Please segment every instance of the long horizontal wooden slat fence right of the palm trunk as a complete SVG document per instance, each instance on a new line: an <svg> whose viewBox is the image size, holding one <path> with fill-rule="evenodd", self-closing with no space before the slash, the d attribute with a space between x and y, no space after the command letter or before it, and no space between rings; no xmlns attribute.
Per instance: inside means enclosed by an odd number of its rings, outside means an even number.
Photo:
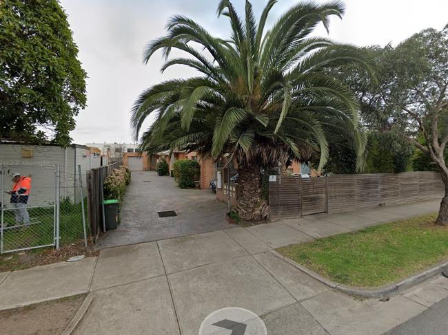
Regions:
<svg viewBox="0 0 448 335"><path fill-rule="evenodd" d="M277 176L269 182L271 219L314 213L338 213L382 204L442 197L445 187L436 172L331 175L304 178Z"/></svg>

